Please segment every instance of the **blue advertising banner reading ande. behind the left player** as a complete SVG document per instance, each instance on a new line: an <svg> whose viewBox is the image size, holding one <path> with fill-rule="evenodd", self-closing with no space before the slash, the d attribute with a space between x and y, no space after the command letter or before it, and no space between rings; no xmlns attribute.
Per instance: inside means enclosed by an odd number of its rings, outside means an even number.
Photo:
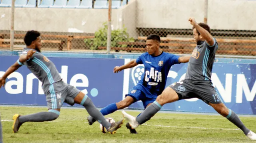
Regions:
<svg viewBox="0 0 256 143"><path fill-rule="evenodd" d="M0 56L0 77L18 56ZM49 58L61 74L63 81L87 94L96 107L122 100L123 73L113 73L124 59ZM46 105L42 83L26 66L22 66L6 79L0 89L0 104ZM66 104L65 104L66 105ZM79 106L79 105L78 105Z"/></svg>

